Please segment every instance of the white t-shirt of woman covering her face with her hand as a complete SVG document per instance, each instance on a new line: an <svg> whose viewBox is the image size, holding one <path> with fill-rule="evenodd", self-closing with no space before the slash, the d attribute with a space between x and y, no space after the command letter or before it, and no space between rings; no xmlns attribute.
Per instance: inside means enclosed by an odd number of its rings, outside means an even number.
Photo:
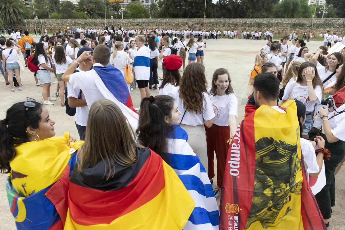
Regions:
<svg viewBox="0 0 345 230"><path fill-rule="evenodd" d="M301 86L298 82L286 85L283 100L289 99L290 92L294 86L295 88L292 91L291 98L301 101L305 105L307 112L312 112L314 110L315 104L321 103L322 91L320 86L316 86L314 89L317 100L311 102L308 99L308 86Z"/></svg>

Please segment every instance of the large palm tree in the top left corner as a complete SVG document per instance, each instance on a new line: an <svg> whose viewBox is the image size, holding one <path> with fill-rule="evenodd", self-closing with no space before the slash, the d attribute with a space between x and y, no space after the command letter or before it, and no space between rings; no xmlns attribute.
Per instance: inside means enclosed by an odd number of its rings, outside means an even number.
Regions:
<svg viewBox="0 0 345 230"><path fill-rule="evenodd" d="M0 0L0 17L5 24L14 27L14 23L24 19L26 9L20 0Z"/></svg>

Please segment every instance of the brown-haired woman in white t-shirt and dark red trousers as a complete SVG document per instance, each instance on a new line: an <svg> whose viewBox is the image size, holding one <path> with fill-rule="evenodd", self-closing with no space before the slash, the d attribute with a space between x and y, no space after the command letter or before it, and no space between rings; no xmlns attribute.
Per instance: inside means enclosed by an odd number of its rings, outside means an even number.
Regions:
<svg viewBox="0 0 345 230"><path fill-rule="evenodd" d="M266 53L265 53L266 54ZM214 189L216 199L220 197L223 184L225 162L229 149L228 140L237 129L237 98L234 95L229 72L224 68L216 69L212 76L208 94L212 101L215 117L211 128L206 129L208 178L213 180L214 152L217 159L217 185Z"/></svg>

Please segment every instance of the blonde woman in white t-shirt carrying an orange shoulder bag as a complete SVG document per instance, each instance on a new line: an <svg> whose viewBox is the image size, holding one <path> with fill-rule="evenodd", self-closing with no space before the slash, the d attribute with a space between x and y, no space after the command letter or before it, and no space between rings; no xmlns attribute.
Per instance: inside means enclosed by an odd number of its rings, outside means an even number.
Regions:
<svg viewBox="0 0 345 230"><path fill-rule="evenodd" d="M125 66L127 63L133 63L131 53L123 50L123 43L121 41L116 41L112 45L112 54L110 56L110 64L118 68L125 78ZM130 89L130 84L127 84L128 90Z"/></svg>

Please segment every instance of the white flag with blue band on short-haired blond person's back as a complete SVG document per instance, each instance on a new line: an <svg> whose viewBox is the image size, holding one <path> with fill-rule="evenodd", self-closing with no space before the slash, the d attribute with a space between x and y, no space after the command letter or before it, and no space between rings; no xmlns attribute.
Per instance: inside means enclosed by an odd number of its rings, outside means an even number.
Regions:
<svg viewBox="0 0 345 230"><path fill-rule="evenodd" d="M146 46L140 47L133 62L135 79L150 80L150 49Z"/></svg>

